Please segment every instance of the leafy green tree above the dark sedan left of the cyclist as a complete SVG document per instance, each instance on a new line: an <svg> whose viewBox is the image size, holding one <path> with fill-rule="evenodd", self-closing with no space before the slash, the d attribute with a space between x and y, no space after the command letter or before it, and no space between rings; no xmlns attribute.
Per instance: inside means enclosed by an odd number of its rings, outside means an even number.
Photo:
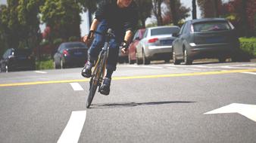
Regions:
<svg viewBox="0 0 256 143"><path fill-rule="evenodd" d="M80 37L80 12L82 8L76 1L45 0L40 8L42 21L51 28L49 41L53 44L55 39L67 41L70 37Z"/></svg>

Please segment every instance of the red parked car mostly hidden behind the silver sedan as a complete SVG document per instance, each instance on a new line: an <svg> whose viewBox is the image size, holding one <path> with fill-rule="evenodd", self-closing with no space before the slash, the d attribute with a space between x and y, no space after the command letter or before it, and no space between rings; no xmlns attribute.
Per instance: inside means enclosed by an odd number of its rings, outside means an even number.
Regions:
<svg viewBox="0 0 256 143"><path fill-rule="evenodd" d="M145 29L138 29L133 36L133 41L130 43L128 49L128 61L130 64L136 62L136 46L139 44L139 41L143 38Z"/></svg>

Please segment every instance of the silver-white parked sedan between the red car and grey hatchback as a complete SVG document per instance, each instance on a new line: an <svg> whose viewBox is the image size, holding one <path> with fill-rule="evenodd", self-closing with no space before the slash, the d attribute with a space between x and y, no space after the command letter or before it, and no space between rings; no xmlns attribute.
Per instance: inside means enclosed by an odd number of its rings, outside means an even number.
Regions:
<svg viewBox="0 0 256 143"><path fill-rule="evenodd" d="M173 33L180 31L178 26L157 26L147 28L136 46L137 64L150 64L151 60L164 59L170 62L172 56Z"/></svg>

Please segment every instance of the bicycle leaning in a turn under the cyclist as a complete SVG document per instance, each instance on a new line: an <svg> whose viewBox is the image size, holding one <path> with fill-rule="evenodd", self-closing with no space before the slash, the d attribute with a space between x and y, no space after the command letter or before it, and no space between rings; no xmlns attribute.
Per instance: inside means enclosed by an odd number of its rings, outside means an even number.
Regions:
<svg viewBox="0 0 256 143"><path fill-rule="evenodd" d="M102 33L99 32L95 33L102 35ZM106 62L108 59L109 41L111 40L111 38L114 38L114 34L112 32L112 29L108 29L108 33L105 35L104 47L102 47L102 50L99 53L98 60L95 63L95 68L92 71L92 77L89 81L89 96L86 101L86 108L89 108L92 104L92 99L95 96L97 88L98 92L100 90L103 78L105 76Z"/></svg>

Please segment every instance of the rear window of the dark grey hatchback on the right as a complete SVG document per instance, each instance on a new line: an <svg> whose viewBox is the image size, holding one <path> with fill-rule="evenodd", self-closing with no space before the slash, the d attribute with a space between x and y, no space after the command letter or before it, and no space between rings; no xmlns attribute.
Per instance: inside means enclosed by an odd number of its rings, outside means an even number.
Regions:
<svg viewBox="0 0 256 143"><path fill-rule="evenodd" d="M211 32L230 30L229 24L226 21L195 23L193 24L194 32Z"/></svg>

